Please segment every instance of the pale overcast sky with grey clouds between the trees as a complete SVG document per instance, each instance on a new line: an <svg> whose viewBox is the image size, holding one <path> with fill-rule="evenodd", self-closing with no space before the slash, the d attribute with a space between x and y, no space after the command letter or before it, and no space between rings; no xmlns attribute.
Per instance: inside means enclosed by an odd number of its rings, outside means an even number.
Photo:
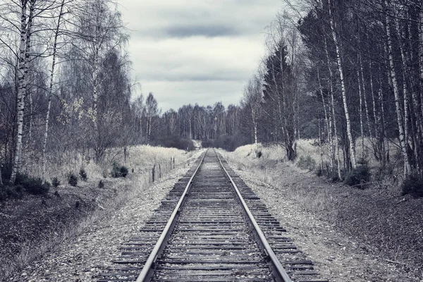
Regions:
<svg viewBox="0 0 423 282"><path fill-rule="evenodd" d="M133 74L164 111L238 104L280 0L118 0Z"/></svg>

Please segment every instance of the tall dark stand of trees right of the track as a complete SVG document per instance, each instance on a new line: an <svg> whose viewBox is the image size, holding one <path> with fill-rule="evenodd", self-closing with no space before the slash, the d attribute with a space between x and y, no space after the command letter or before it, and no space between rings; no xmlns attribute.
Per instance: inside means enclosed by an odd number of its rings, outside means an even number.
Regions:
<svg viewBox="0 0 423 282"><path fill-rule="evenodd" d="M399 159L421 179L422 2L286 3L243 97L259 140L281 142L292 160L300 137L319 137L339 179L370 157L382 169Z"/></svg>

